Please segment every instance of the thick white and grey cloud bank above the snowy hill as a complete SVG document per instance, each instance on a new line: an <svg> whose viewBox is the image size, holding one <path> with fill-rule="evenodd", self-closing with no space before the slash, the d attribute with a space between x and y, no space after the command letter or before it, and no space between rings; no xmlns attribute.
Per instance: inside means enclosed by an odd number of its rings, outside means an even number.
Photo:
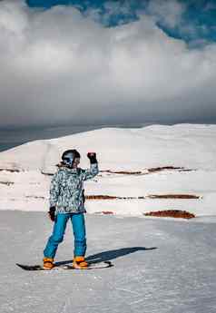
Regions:
<svg viewBox="0 0 216 313"><path fill-rule="evenodd" d="M104 28L72 7L0 12L2 127L216 118L215 44L189 50L147 15Z"/></svg>

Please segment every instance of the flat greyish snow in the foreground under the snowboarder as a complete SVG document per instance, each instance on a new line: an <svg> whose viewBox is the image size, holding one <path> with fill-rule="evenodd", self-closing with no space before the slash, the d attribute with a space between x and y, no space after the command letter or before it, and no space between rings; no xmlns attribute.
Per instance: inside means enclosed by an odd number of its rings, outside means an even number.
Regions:
<svg viewBox="0 0 216 313"><path fill-rule="evenodd" d="M213 223L87 215L87 256L111 269L27 272L52 224L44 212L0 211L1 313L215 313ZM67 226L56 260L71 260Z"/></svg>

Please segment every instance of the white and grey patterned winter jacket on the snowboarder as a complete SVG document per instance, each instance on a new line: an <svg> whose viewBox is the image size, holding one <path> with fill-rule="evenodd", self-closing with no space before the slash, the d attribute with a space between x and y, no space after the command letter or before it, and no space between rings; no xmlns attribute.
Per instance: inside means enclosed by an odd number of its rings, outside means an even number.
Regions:
<svg viewBox="0 0 216 313"><path fill-rule="evenodd" d="M90 180L98 172L97 163L91 164L89 170L61 166L51 181L50 206L55 207L57 213L85 212L83 181Z"/></svg>

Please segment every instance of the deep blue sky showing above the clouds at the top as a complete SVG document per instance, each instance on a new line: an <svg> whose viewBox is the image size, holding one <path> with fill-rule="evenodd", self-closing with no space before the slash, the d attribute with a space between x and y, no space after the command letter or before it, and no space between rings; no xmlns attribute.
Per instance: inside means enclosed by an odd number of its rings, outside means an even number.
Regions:
<svg viewBox="0 0 216 313"><path fill-rule="evenodd" d="M148 10L150 3L153 0L118 0L118 1L105 1L105 0L26 0L27 4L31 7L42 7L49 9L54 5L72 5L83 13L88 12L89 9L97 9L101 17L99 22L105 26L112 27L118 24L131 23L139 19L139 13L144 12L152 14ZM157 24L167 34L185 40L187 43L194 41L216 42L216 1L215 0L179 0L180 4L185 6L185 11L182 13L182 20L180 24L173 27L164 22L162 16L159 17ZM107 14L108 8L106 4L118 4L128 9L116 10L109 18L103 20L103 16ZM190 25L191 31L186 32L184 25ZM202 42L201 42L202 43ZM202 43L203 44L203 43Z"/></svg>

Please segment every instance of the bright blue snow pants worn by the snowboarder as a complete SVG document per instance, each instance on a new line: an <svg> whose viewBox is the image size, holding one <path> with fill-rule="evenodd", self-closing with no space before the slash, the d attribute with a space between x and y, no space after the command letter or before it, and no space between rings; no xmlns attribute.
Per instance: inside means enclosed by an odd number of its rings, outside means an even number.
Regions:
<svg viewBox="0 0 216 313"><path fill-rule="evenodd" d="M74 257L84 256L86 251L85 224L83 213L57 213L53 234L47 241L44 257L54 259L60 242L64 240L67 221L71 219L74 231Z"/></svg>

